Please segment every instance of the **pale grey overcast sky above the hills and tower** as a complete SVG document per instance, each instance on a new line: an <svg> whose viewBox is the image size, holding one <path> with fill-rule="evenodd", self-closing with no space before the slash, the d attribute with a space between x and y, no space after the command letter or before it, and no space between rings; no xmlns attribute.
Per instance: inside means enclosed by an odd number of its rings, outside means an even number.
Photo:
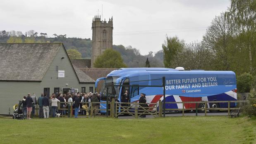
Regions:
<svg viewBox="0 0 256 144"><path fill-rule="evenodd" d="M229 0L2 0L0 31L29 31L91 38L94 15L113 16L113 44L141 54L162 49L165 36L201 41Z"/></svg>

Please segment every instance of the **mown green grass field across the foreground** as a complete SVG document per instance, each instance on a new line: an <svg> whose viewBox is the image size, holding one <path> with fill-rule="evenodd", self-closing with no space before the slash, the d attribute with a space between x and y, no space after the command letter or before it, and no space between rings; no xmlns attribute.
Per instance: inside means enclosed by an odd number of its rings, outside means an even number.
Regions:
<svg viewBox="0 0 256 144"><path fill-rule="evenodd" d="M256 144L246 117L0 118L0 128L1 144Z"/></svg>

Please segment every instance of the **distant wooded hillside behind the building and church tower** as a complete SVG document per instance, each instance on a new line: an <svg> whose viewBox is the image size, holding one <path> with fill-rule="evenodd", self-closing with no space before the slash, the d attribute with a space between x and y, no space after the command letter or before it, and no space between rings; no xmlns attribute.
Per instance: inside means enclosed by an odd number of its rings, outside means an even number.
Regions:
<svg viewBox="0 0 256 144"><path fill-rule="evenodd" d="M67 38L66 35L53 34L50 38L47 33L38 34L34 30L22 33L21 31L0 31L0 43L63 43L66 50L81 53L82 59L91 59L92 40L90 38ZM139 50L132 46L124 47L123 45L113 45L113 50L121 53L122 59L127 67L144 67L145 62L151 63L151 67L163 67L163 52L160 50L153 55L153 52L148 52L147 55L141 55ZM75 56L72 59L80 58Z"/></svg>

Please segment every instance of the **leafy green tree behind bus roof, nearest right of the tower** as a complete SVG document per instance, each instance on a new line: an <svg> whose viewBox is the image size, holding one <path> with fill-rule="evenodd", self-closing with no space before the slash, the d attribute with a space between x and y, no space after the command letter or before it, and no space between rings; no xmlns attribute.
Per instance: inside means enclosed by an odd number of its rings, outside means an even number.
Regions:
<svg viewBox="0 0 256 144"><path fill-rule="evenodd" d="M179 61L177 55L184 49L184 40L179 40L177 36L168 38L166 36L165 43L163 43L163 54L164 54L164 64L165 67L174 68L178 66Z"/></svg>

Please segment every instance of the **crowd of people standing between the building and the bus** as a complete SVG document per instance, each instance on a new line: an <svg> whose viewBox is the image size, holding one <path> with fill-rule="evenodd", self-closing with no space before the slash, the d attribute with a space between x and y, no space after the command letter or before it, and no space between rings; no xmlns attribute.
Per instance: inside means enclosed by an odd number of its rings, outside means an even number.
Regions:
<svg viewBox="0 0 256 144"><path fill-rule="evenodd" d="M69 110L61 110L58 108L58 102L60 103L60 108L67 108ZM68 102L68 103L64 103ZM84 103L83 103L84 102ZM41 94L40 97L36 97L35 94L31 96L28 94L27 97L23 97L22 99L22 113L23 119L31 119L35 116L35 108L36 105L39 106L38 116L39 118L49 118L55 117L58 113L61 115L70 114L71 112L74 113L75 118L78 115L86 115L92 112L93 114L98 114L99 104L91 102L100 102L100 94L96 93L67 93L61 94L58 93L57 96L53 93L49 98L46 94ZM93 111L90 111L92 106ZM73 111L71 111L71 107ZM86 110L80 110L81 108Z"/></svg>

